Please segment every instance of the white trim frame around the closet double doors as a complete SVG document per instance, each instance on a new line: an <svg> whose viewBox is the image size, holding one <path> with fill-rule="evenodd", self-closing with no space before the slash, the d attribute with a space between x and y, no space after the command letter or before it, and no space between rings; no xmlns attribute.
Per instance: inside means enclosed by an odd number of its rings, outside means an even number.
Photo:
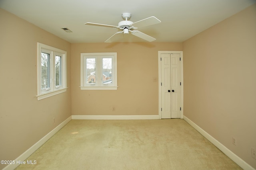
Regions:
<svg viewBox="0 0 256 170"><path fill-rule="evenodd" d="M162 119L162 88L161 88L161 54L180 54L180 119L183 119L183 51L158 51L158 115L159 119Z"/></svg>

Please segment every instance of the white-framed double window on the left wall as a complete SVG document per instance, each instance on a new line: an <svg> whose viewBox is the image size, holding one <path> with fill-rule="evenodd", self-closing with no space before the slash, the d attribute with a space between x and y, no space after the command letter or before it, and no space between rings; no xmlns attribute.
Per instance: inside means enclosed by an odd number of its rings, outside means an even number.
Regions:
<svg viewBox="0 0 256 170"><path fill-rule="evenodd" d="M66 92L66 51L38 46L38 100Z"/></svg>

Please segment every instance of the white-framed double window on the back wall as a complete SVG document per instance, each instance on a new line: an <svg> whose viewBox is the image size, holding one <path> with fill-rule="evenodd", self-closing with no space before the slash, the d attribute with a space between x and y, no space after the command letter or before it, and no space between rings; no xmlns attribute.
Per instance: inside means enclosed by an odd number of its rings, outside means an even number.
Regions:
<svg viewBox="0 0 256 170"><path fill-rule="evenodd" d="M81 90L117 89L117 53L81 53Z"/></svg>

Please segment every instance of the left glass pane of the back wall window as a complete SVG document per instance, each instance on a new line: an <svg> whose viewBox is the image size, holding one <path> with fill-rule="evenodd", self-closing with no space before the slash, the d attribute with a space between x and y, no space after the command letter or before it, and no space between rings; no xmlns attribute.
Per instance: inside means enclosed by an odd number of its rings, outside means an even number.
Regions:
<svg viewBox="0 0 256 170"><path fill-rule="evenodd" d="M86 83L95 84L96 83L96 59L86 59Z"/></svg>

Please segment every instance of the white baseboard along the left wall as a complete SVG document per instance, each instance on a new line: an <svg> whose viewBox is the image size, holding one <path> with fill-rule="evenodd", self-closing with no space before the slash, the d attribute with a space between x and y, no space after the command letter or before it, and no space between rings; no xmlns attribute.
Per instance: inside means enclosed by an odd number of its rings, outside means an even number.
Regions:
<svg viewBox="0 0 256 170"><path fill-rule="evenodd" d="M68 119L64 120L60 125L55 127L52 131L50 131L47 135L45 135L42 139L40 139L37 143L35 143L32 147L26 150L23 154L21 154L18 158L15 159L16 161L24 161L26 160L32 153L34 153L38 148L40 148L48 139L50 139L55 133L57 133L62 127L64 127L70 120L72 116L68 117ZM9 164L8 166L4 167L3 170L14 170L17 168L19 164Z"/></svg>

